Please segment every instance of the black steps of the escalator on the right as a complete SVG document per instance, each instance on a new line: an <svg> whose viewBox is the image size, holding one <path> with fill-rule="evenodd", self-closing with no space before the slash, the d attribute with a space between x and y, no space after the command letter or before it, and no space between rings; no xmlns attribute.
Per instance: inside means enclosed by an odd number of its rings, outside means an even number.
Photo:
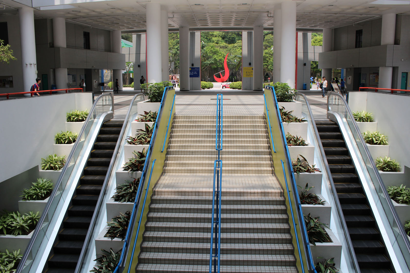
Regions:
<svg viewBox="0 0 410 273"><path fill-rule="evenodd" d="M316 126L360 271L395 272L339 125L318 120Z"/></svg>

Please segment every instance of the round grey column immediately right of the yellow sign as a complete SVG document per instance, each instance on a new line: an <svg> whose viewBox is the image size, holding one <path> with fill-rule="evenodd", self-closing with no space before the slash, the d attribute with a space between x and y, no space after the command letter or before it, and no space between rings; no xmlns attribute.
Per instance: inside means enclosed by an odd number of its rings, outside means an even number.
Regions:
<svg viewBox="0 0 410 273"><path fill-rule="evenodd" d="M263 90L263 26L253 27L253 90Z"/></svg>

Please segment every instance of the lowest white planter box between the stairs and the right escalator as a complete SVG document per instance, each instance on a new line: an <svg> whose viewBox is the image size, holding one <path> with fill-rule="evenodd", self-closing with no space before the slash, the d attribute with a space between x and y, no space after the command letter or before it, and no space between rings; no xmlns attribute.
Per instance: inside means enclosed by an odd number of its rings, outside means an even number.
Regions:
<svg viewBox="0 0 410 273"><path fill-rule="evenodd" d="M323 257L325 259L335 258L335 267L340 268L340 259L342 257L342 244L333 234L333 232L325 228L326 232L332 240L331 243L316 243L316 246L310 244L310 249L312 250L313 262L316 263L317 257Z"/></svg>

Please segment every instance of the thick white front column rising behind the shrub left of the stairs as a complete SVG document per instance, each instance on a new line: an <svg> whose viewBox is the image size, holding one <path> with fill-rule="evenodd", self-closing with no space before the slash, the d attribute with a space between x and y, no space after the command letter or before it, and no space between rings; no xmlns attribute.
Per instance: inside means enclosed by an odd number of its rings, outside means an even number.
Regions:
<svg viewBox="0 0 410 273"><path fill-rule="evenodd" d="M161 61L161 5L149 2L146 4L147 15L147 82L162 81Z"/></svg>

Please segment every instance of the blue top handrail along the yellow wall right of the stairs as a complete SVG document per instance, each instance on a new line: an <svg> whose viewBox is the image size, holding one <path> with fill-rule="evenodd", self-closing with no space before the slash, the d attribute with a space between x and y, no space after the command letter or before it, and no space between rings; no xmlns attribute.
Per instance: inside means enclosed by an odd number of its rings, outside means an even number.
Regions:
<svg viewBox="0 0 410 273"><path fill-rule="evenodd" d="M286 142L285 129L283 129L282 118L280 117L280 110L279 110L278 100L276 99L275 88L273 88L273 86L267 86L267 88L272 90L273 99L275 100L276 111L277 111L277 114L278 114L278 119L279 119L279 124L280 124L280 131L282 133L283 140L285 141L285 151L286 151L285 157L286 157L288 170L289 170L289 174L290 174L289 176L290 176L290 179L291 179L291 182L292 182L292 187L293 187L294 192L296 193L296 194L294 194L294 196L296 198L296 203L298 204L298 210L296 212L299 214L301 220L303 221L303 223L300 223L300 226L302 227L302 232L303 232L302 236L303 236L303 239L305 240L305 248L306 248L307 256L309 258L309 263L313 268L313 272L317 273L316 269L314 268L312 251L310 250L309 238L307 237L307 230L306 230L306 226L305 226L305 217L303 216L301 200L299 198L299 194L297 193L298 191L297 191L295 175L294 175L294 172L293 172L292 161L290 159L289 148L288 148L287 142ZM282 165L283 165L282 160L281 160L281 162L282 162ZM285 181L286 181L286 176L285 176ZM291 204L290 199L289 199L289 204ZM296 228L295 224L294 224L294 227ZM298 244L298 248L299 248L299 244ZM303 267L302 259L301 259L301 264L302 264L302 267Z"/></svg>

